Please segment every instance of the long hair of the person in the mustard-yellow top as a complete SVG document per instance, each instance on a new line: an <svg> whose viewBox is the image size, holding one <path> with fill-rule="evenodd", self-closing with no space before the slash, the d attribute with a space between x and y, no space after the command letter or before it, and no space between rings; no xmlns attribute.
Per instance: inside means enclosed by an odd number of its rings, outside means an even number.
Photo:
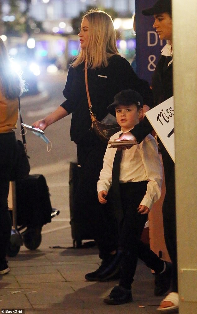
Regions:
<svg viewBox="0 0 197 314"><path fill-rule="evenodd" d="M0 38L0 82L7 99L14 99L22 93L22 79L12 70L6 47Z"/></svg>

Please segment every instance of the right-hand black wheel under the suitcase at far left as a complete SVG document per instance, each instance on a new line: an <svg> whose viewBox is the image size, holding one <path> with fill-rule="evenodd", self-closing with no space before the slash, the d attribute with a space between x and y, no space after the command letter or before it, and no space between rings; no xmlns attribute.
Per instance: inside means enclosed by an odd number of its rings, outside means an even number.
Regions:
<svg viewBox="0 0 197 314"><path fill-rule="evenodd" d="M29 250L35 250L39 247L42 241L41 235L42 227L35 226L35 227L28 227L23 233L23 242L26 248Z"/></svg>

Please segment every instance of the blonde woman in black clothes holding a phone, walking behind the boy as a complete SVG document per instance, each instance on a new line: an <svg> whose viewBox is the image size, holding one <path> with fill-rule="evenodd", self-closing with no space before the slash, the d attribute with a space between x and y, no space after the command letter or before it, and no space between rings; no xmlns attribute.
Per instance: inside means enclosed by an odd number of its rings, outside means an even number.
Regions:
<svg viewBox="0 0 197 314"><path fill-rule="evenodd" d="M85 278L103 280L110 279L118 272L120 254L117 252L118 236L113 214L109 215L110 211L105 206L100 206L97 198L97 181L107 145L91 130L84 62L87 60L88 89L93 112L99 121L108 114L107 106L113 102L114 95L122 89L139 91L141 80L130 67L130 63L120 56L113 21L107 13L99 9L86 13L78 36L80 52L68 71L63 91L66 100L55 112L35 122L34 126L45 130L50 124L72 113L70 135L71 140L77 144L79 170L72 222L76 224L78 239L83 228L82 222L85 221L86 225L89 222L87 231L98 244L99 256L103 262L96 272L86 274ZM145 103L151 107L149 88L143 91L143 96ZM112 267L108 267L109 265Z"/></svg>

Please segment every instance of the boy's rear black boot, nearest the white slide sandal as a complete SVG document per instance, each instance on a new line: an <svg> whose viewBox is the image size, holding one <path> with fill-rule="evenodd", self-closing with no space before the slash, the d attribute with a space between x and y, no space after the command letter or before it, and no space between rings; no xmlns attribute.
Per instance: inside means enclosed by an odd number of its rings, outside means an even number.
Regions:
<svg viewBox="0 0 197 314"><path fill-rule="evenodd" d="M172 264L165 262L166 269L163 273L155 273L155 290L154 295L164 295L169 289L171 284Z"/></svg>

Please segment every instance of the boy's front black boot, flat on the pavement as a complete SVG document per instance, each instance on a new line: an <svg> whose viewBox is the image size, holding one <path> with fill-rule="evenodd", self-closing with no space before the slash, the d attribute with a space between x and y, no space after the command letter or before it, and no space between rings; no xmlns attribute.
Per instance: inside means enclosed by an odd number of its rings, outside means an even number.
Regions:
<svg viewBox="0 0 197 314"><path fill-rule="evenodd" d="M107 303L107 304L118 305L118 304L132 302L133 298L132 298L131 290L127 290L123 288L122 286L115 286L111 290L110 295L106 296L106 298L104 298L103 301L104 303Z"/></svg>

